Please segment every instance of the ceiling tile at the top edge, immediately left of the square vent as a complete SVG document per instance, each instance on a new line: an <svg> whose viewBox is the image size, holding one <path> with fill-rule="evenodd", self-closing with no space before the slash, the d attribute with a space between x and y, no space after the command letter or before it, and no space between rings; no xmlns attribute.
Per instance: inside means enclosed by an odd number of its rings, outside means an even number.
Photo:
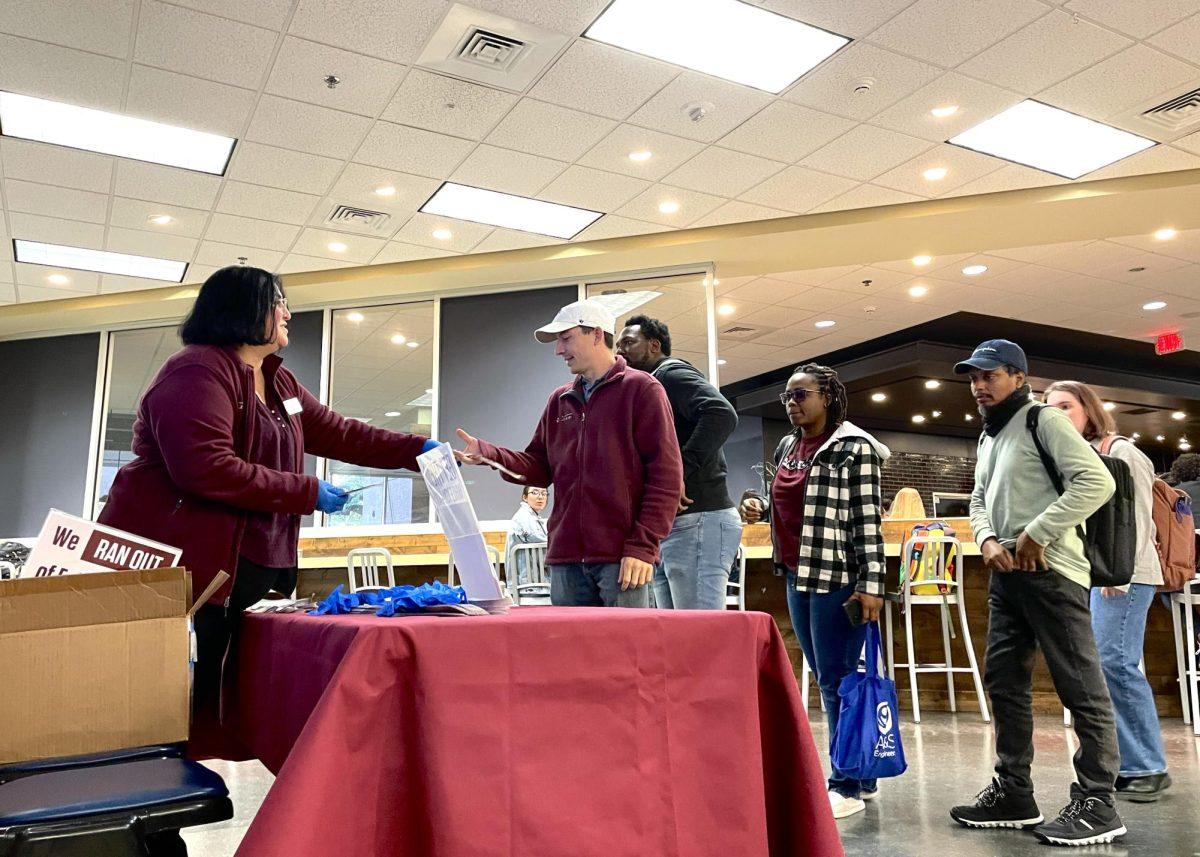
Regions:
<svg viewBox="0 0 1200 857"><path fill-rule="evenodd" d="M444 0L300 0L289 32L392 62L410 64L442 23Z"/></svg>

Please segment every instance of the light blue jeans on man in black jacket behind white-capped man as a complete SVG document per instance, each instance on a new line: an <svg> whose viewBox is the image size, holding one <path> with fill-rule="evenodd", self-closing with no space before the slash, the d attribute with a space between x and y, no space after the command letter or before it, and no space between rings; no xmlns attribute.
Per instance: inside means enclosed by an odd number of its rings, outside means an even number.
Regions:
<svg viewBox="0 0 1200 857"><path fill-rule="evenodd" d="M662 540L654 568L654 605L664 610L725 610L730 568L742 541L737 509L680 515Z"/></svg>

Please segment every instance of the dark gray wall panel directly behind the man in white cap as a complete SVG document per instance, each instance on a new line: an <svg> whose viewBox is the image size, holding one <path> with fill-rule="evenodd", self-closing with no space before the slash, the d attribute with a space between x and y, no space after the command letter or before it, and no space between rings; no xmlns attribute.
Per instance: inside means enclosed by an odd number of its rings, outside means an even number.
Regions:
<svg viewBox="0 0 1200 857"><path fill-rule="evenodd" d="M554 347L533 331L578 299L574 286L442 301L439 441L460 445L455 428L524 449L556 386L571 379ZM480 520L510 517L521 489L491 469L463 469ZM553 493L551 493L553 503Z"/></svg>

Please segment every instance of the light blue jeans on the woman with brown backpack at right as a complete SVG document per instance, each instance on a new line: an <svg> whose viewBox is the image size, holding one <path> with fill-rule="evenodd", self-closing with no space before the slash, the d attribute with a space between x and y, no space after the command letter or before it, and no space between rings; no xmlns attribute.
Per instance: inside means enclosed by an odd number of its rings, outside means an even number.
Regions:
<svg viewBox="0 0 1200 857"><path fill-rule="evenodd" d="M1154 693L1138 669L1146 637L1146 613L1154 600L1154 589L1148 583L1133 583L1128 593L1108 598L1099 589L1092 589L1092 633L1116 714L1122 777L1166 771Z"/></svg>

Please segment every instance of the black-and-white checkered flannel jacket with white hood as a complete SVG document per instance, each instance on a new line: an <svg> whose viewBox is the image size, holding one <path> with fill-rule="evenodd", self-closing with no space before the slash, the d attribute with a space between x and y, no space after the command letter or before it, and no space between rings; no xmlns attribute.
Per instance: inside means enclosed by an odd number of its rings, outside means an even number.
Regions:
<svg viewBox="0 0 1200 857"><path fill-rule="evenodd" d="M787 466L797 438L792 432L779 442L776 467ZM798 591L833 592L853 583L859 592L883 595L881 466L890 455L865 431L842 422L812 456L804 483ZM770 501L763 499L769 520ZM779 557L774 559L776 574L786 573Z"/></svg>

